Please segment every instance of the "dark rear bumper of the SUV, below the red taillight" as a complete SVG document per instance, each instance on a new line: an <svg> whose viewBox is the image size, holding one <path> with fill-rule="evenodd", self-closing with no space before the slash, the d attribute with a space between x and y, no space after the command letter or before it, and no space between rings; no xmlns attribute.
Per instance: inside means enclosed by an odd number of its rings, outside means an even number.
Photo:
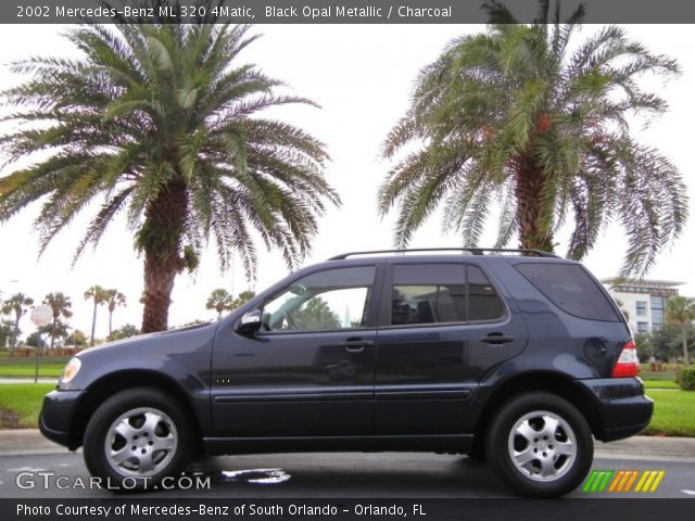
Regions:
<svg viewBox="0 0 695 521"><path fill-rule="evenodd" d="M630 437L652 421L654 401L644 395L639 378L576 380L596 406L599 425L594 435L603 442Z"/></svg>

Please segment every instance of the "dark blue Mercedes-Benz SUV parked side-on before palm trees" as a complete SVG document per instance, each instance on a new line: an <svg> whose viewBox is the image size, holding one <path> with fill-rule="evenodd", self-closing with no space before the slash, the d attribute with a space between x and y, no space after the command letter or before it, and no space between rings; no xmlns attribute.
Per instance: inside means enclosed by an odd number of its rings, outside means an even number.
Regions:
<svg viewBox="0 0 695 521"><path fill-rule="evenodd" d="M85 351L41 431L135 490L197 452L427 450L553 497L582 482L593 439L647 425L628 325L580 264L428 252L340 255L216 323Z"/></svg>

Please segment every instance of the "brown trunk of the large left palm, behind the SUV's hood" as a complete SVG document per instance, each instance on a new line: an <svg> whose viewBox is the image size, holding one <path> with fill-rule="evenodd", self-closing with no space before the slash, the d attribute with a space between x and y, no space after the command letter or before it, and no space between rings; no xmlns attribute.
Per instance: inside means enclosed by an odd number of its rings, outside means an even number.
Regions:
<svg viewBox="0 0 695 521"><path fill-rule="evenodd" d="M174 279L184 268L179 250L187 206L186 185L172 182L146 212L146 221L140 230L144 250L142 333L164 331L168 327Z"/></svg>

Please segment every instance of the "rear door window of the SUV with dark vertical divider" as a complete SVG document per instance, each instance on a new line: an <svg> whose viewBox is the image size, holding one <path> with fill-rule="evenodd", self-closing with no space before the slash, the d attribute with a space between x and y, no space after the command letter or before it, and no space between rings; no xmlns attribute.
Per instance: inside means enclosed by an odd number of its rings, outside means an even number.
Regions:
<svg viewBox="0 0 695 521"><path fill-rule="evenodd" d="M492 283L476 266L402 264L393 267L392 326L494 320L504 313Z"/></svg>

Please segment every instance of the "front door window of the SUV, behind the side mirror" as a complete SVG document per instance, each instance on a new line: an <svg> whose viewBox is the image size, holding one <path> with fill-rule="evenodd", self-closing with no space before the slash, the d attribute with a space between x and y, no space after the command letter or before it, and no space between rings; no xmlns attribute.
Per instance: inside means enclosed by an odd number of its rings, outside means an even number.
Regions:
<svg viewBox="0 0 695 521"><path fill-rule="evenodd" d="M292 283L263 306L265 331L334 331L366 326L375 266L327 269Z"/></svg>

